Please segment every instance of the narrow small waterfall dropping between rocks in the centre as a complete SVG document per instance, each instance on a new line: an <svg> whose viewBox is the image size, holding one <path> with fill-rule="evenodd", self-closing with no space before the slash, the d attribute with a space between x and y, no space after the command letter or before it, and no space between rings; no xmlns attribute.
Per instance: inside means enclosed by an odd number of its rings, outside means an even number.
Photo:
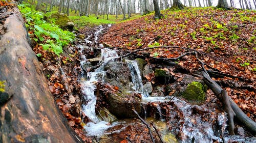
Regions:
<svg viewBox="0 0 256 143"><path fill-rule="evenodd" d="M148 93L143 88L142 78L137 62L132 60L125 60L125 62L131 71L134 90L140 92L143 97L148 97Z"/></svg>

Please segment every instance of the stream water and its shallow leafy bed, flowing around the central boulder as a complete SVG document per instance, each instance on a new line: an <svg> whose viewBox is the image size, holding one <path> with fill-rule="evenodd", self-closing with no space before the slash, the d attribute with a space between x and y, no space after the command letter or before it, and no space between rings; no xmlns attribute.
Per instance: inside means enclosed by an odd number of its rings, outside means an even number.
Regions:
<svg viewBox="0 0 256 143"><path fill-rule="evenodd" d="M111 25L108 25L110 27ZM106 83L109 70L106 66L109 63L118 63L119 54L115 49L103 48L98 43L98 36L102 34L105 27L99 26L96 31L84 38L83 43L78 46L81 67L83 71L80 77L81 93L83 97L82 112L89 119L89 123L84 126L89 136L96 138L95 142L120 142L121 139L115 139L131 127L144 126L138 125L140 120L135 118L124 118L107 122L99 117L95 109L97 104L97 82ZM93 65L92 58L88 59L84 54L87 50L93 50L94 47L101 48L100 54L96 55L98 67L91 70ZM118 64L117 64L118 65ZM131 76L131 82L125 84L130 87L127 93L139 93L141 95L140 116L146 122L152 122L160 131L161 137L165 142L256 142L255 138L246 138L243 136L227 135L227 116L224 113L214 115L215 108L205 105L189 104L174 96L151 96L150 88L146 88L145 81L141 77L142 73L138 63L133 59L122 60L121 65L127 65ZM120 74L120 73L119 73ZM119 76L116 75L117 79ZM129 78L129 77L127 77ZM120 79L121 80L121 79ZM144 84L143 84L144 83ZM120 91L120 88L119 88ZM167 117L168 116L168 117ZM142 127L141 127L142 128ZM221 132L222 131L222 132ZM132 132L130 129L129 132ZM224 135L224 137L221 137ZM123 137L125 139L125 137ZM130 137L132 139L132 137ZM126 136L126 139L130 139ZM157 141L156 141L157 142Z"/></svg>

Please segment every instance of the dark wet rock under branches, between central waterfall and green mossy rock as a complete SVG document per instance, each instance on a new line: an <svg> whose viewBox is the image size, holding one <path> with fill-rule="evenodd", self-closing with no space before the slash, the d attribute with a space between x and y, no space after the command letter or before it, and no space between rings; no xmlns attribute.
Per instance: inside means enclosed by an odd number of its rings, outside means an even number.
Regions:
<svg viewBox="0 0 256 143"><path fill-rule="evenodd" d="M168 83L174 80L173 76L163 69L155 69L155 79L159 83Z"/></svg>

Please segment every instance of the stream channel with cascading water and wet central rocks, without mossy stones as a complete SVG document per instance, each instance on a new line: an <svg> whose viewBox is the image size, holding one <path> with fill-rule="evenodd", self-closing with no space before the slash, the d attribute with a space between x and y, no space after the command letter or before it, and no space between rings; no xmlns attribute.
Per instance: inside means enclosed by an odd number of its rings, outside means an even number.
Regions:
<svg viewBox="0 0 256 143"><path fill-rule="evenodd" d="M88 136L93 136L94 142L120 142L122 140L153 142L147 127L134 114L132 107L148 124L154 124L164 142L255 141L253 137L228 136L227 116L224 112L215 114L215 108L208 106L207 103L189 104L172 95L163 96L161 93L163 86L155 87L151 82L144 81L143 76L148 73L145 69L150 65L144 64L141 68L138 60L128 58L120 60L121 54L118 50L105 48L98 43L102 31L110 26L98 26L78 45L80 64L83 69L80 77L84 101L82 112L86 118L83 120L88 121L84 129ZM99 54L95 54L95 49ZM88 55L88 53L93 53L93 55ZM121 100L127 99L127 102L118 101L117 104L120 103L120 105L117 106L114 101L116 99L107 99L105 102L109 105L108 109L97 106L99 94L96 93L99 92L97 90L99 82L101 85L107 84L109 87L114 87L118 92L112 95L114 97L125 93L125 97ZM109 95L108 98L112 96ZM134 103L136 101L138 103ZM96 106L103 109L105 113L102 115ZM110 120L110 117L113 118ZM160 142L159 135L153 128L152 134L155 142Z"/></svg>

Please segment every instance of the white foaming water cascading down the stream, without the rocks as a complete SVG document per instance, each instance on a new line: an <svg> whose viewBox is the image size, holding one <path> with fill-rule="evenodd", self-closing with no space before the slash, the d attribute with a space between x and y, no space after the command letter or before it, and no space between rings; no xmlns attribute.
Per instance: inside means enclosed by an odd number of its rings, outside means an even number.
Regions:
<svg viewBox="0 0 256 143"><path fill-rule="evenodd" d="M101 33L101 31L104 28L100 26L98 28L98 31L94 33L94 42L97 43L98 35ZM91 43L89 39L92 37L92 35L88 36L84 41L87 43ZM86 48L86 46L80 45L79 46L79 53L81 54L80 60L81 65L88 63L88 60L86 59L86 56L82 54L82 51ZM86 102L82 105L82 111L83 113L90 119L91 122L87 124L87 126L84 126L84 129L87 131L88 135L91 136L101 136L104 134L104 131L110 127L116 126L118 124L122 124L120 122L114 122L112 125L109 125L109 123L105 121L101 121L97 118L96 112L95 112L95 105L97 101L97 97L94 95L94 91L96 89L95 83L98 81L104 82L104 76L105 71L104 66L106 63L110 61L114 61L118 58L118 54L115 50L102 48L101 49L101 60L100 60L100 66L95 69L92 72L85 72L83 71L81 74L81 89L83 98ZM212 129L212 126L210 122L202 121L201 115L194 113L193 114L193 108L201 108L198 105L190 105L186 103L183 100L180 100L176 97L151 97L147 93L147 91L143 88L141 73L138 68L137 62L132 60L125 60L127 63L132 76L132 82L134 85L134 91L141 93L142 95L142 104L146 105L148 102L154 102L156 105L156 110L159 112L160 119L163 119L162 112L161 112L161 106L159 103L161 102L167 102L172 99L175 106L178 108L180 112L182 112L183 118L183 124L179 130L180 134L182 135L182 138L180 139L180 142L212 142L212 140L218 140L219 142L223 142L221 138L217 137L214 133L214 130ZM81 66L82 67L82 66ZM87 79L87 80L85 80ZM147 118L147 112L146 112L146 106L143 106L144 108L144 118ZM203 109L202 109L203 110ZM207 110L207 109L206 109ZM210 111L209 111L210 112ZM219 115L219 125L222 127L223 124L225 124L226 116ZM229 138L225 138L227 140Z"/></svg>

